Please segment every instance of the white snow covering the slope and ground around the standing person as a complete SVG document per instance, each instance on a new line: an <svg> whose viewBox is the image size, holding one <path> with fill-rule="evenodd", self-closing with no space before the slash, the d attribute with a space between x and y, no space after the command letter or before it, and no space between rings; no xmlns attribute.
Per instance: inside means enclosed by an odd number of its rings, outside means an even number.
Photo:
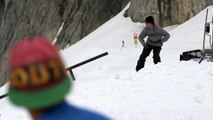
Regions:
<svg viewBox="0 0 213 120"><path fill-rule="evenodd" d="M67 67L109 53L73 70L77 80L67 100L116 120L212 120L213 63L179 61L183 51L202 49L205 10L182 25L167 27L171 38L162 48L162 63L154 65L150 55L139 72L135 65L142 46L135 47L133 33L139 33L144 24L122 14L61 51ZM212 15L211 6L208 21ZM0 88L0 93L6 88ZM0 120L30 119L8 99L1 99L0 106Z"/></svg>

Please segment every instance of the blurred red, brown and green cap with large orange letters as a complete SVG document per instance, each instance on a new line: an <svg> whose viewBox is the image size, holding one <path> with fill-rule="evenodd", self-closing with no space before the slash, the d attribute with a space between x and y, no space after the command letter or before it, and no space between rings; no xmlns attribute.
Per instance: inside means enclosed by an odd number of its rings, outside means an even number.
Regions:
<svg viewBox="0 0 213 120"><path fill-rule="evenodd" d="M58 49L44 37L16 43L9 54L9 99L29 110L54 106L71 87Z"/></svg>

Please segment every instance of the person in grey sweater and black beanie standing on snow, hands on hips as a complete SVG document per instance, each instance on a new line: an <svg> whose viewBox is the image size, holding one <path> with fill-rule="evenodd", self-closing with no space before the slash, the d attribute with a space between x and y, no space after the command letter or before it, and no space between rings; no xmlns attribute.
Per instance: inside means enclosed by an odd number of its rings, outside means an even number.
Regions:
<svg viewBox="0 0 213 120"><path fill-rule="evenodd" d="M145 19L146 27L140 33L138 40L143 45L143 52L141 53L139 60L136 65L136 71L144 68L146 58L149 56L150 52L153 50L153 62L157 64L161 62L160 51L163 43L166 42L170 35L161 26L155 23L152 16L148 16ZM147 38L145 42L144 39Z"/></svg>

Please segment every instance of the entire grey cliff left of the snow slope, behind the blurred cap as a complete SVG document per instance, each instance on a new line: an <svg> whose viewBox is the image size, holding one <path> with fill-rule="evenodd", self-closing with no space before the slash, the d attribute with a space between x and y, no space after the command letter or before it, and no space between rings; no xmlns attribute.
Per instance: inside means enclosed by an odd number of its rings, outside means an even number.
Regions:
<svg viewBox="0 0 213 120"><path fill-rule="evenodd" d="M64 48L115 16L129 0L0 0L0 86L6 78L8 50L24 38L43 35Z"/></svg>

